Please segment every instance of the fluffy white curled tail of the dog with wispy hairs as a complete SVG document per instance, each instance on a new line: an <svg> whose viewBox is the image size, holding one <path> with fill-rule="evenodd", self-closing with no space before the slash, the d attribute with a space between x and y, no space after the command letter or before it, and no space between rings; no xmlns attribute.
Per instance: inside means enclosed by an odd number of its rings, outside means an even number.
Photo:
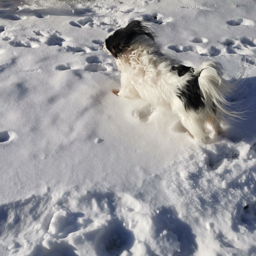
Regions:
<svg viewBox="0 0 256 256"><path fill-rule="evenodd" d="M222 66L219 63L204 62L194 70L194 75L198 76L199 87L205 99L205 107L212 117L218 118L216 112L219 110L225 116L242 118L244 112L232 111L232 103L227 98L236 91L244 72L245 67L236 81L230 82L222 78Z"/></svg>

